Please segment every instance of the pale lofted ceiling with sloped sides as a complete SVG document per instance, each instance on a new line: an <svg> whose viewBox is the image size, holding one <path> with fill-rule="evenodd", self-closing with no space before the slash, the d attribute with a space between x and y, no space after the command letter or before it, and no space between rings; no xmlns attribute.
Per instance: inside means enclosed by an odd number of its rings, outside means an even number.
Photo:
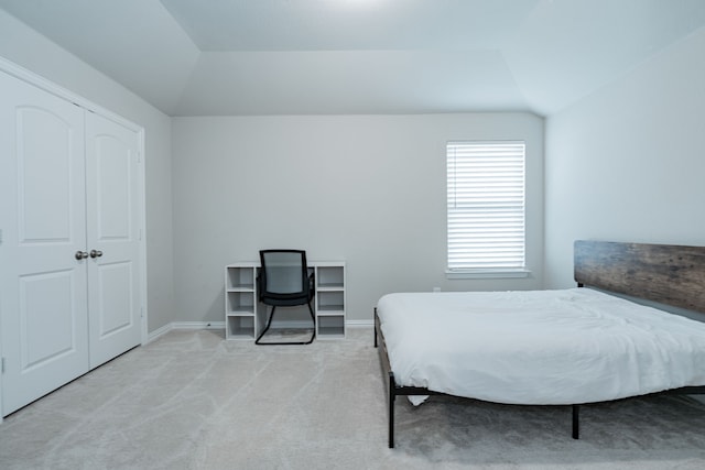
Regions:
<svg viewBox="0 0 705 470"><path fill-rule="evenodd" d="M170 116L549 116L705 25L704 0L0 0Z"/></svg>

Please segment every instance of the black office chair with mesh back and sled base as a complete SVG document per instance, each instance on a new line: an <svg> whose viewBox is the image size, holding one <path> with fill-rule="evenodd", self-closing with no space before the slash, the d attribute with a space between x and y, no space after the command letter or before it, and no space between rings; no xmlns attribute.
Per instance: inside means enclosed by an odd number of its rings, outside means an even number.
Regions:
<svg viewBox="0 0 705 470"><path fill-rule="evenodd" d="M314 275L308 275L306 252L303 250L260 250L261 270L258 276L259 299L270 305L267 327L257 337L256 345L311 345L316 337L316 316L311 307L314 296ZM313 321L313 332L307 341L261 342L274 318L276 307L307 305Z"/></svg>

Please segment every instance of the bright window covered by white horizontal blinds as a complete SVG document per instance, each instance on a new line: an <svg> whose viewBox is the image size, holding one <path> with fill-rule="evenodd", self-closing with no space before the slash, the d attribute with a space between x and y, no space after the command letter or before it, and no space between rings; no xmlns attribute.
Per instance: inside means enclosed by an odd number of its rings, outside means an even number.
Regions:
<svg viewBox="0 0 705 470"><path fill-rule="evenodd" d="M525 275L524 151L524 142L448 142L449 276Z"/></svg>

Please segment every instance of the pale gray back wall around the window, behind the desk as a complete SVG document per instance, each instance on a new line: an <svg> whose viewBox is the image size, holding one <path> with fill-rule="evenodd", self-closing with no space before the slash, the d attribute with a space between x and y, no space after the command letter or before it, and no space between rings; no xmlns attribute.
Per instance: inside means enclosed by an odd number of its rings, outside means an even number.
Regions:
<svg viewBox="0 0 705 470"><path fill-rule="evenodd" d="M445 144L523 139L523 280L445 277ZM345 260L348 319L394 291L540 288L543 119L528 113L174 118L175 320L223 320L224 266L263 248Z"/></svg>

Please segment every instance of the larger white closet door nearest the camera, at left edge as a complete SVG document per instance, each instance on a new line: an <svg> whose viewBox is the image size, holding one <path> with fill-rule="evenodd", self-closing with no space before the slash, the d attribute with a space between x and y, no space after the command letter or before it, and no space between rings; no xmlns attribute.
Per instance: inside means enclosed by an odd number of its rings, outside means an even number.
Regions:
<svg viewBox="0 0 705 470"><path fill-rule="evenodd" d="M88 371L84 111L0 72L7 415Z"/></svg>

